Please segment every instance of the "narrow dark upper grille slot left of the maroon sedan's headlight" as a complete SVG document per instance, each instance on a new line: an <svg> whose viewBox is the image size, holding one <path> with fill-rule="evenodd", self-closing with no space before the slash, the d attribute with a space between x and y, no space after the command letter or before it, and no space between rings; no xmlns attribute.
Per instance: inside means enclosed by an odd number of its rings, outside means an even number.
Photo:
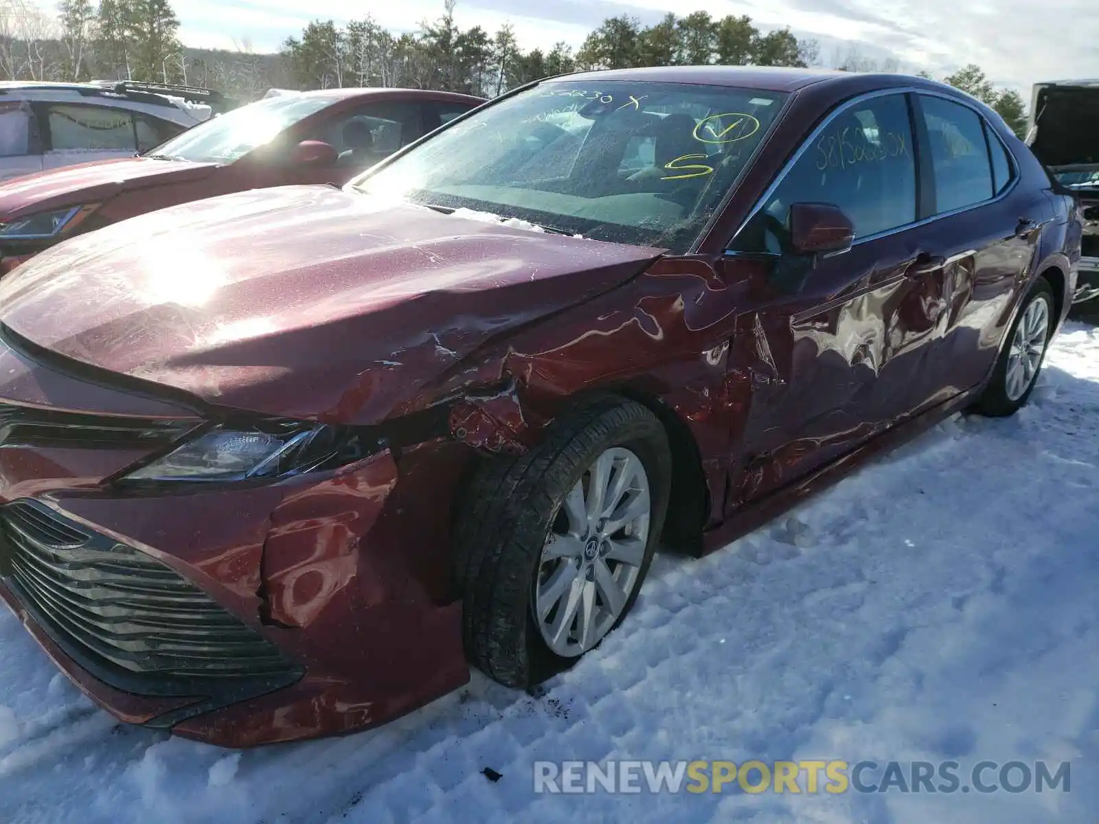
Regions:
<svg viewBox="0 0 1099 824"><path fill-rule="evenodd" d="M0 443L5 446L78 446L149 449L166 446L199 420L123 417L0 402Z"/></svg>

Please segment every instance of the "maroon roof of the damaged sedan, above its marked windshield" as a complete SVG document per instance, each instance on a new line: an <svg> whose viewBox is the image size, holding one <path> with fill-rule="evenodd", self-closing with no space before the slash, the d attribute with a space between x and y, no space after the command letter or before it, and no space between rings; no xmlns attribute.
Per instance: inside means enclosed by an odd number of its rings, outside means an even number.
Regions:
<svg viewBox="0 0 1099 824"><path fill-rule="evenodd" d="M653 66L647 68L603 69L600 71L578 71L559 75L553 80L646 80L650 82L699 83L703 86L729 86L752 88L762 91L797 91L814 83L836 87L866 85L866 75L839 69L787 68L780 66ZM893 86L939 86L920 77L907 75L877 75L882 87Z"/></svg>

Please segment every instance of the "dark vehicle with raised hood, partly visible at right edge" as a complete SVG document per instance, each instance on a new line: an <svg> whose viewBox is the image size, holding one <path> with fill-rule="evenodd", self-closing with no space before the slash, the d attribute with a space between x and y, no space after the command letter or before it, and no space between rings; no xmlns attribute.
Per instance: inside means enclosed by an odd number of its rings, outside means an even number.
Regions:
<svg viewBox="0 0 1099 824"><path fill-rule="evenodd" d="M1037 83L1028 143L1080 203L1077 303L1099 298L1099 80Z"/></svg>

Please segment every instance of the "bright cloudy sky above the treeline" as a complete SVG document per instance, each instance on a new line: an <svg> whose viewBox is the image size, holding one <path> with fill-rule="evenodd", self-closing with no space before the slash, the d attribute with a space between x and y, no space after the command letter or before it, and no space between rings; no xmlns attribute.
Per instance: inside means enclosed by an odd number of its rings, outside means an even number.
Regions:
<svg viewBox="0 0 1099 824"><path fill-rule="evenodd" d="M346 22L370 14L391 31L412 31L442 12L442 0L174 0L187 45L232 47L243 38L275 51L313 19ZM617 14L653 23L662 0L458 0L463 27L492 32L510 22L524 48L574 47ZM907 70L945 75L967 63L999 85L1029 92L1041 80L1099 77L1095 0L679 0L676 13L748 14L762 27L790 26L815 37L828 63L856 45L867 57L893 56Z"/></svg>

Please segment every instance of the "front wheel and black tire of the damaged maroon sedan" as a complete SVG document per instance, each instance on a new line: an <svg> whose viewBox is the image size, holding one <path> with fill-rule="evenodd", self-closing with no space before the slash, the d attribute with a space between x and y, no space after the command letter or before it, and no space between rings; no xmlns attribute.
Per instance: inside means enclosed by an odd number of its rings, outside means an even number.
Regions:
<svg viewBox="0 0 1099 824"><path fill-rule="evenodd" d="M598 646L641 591L670 469L659 420L618 397L555 422L521 457L486 459L455 528L469 661L528 688Z"/></svg>

